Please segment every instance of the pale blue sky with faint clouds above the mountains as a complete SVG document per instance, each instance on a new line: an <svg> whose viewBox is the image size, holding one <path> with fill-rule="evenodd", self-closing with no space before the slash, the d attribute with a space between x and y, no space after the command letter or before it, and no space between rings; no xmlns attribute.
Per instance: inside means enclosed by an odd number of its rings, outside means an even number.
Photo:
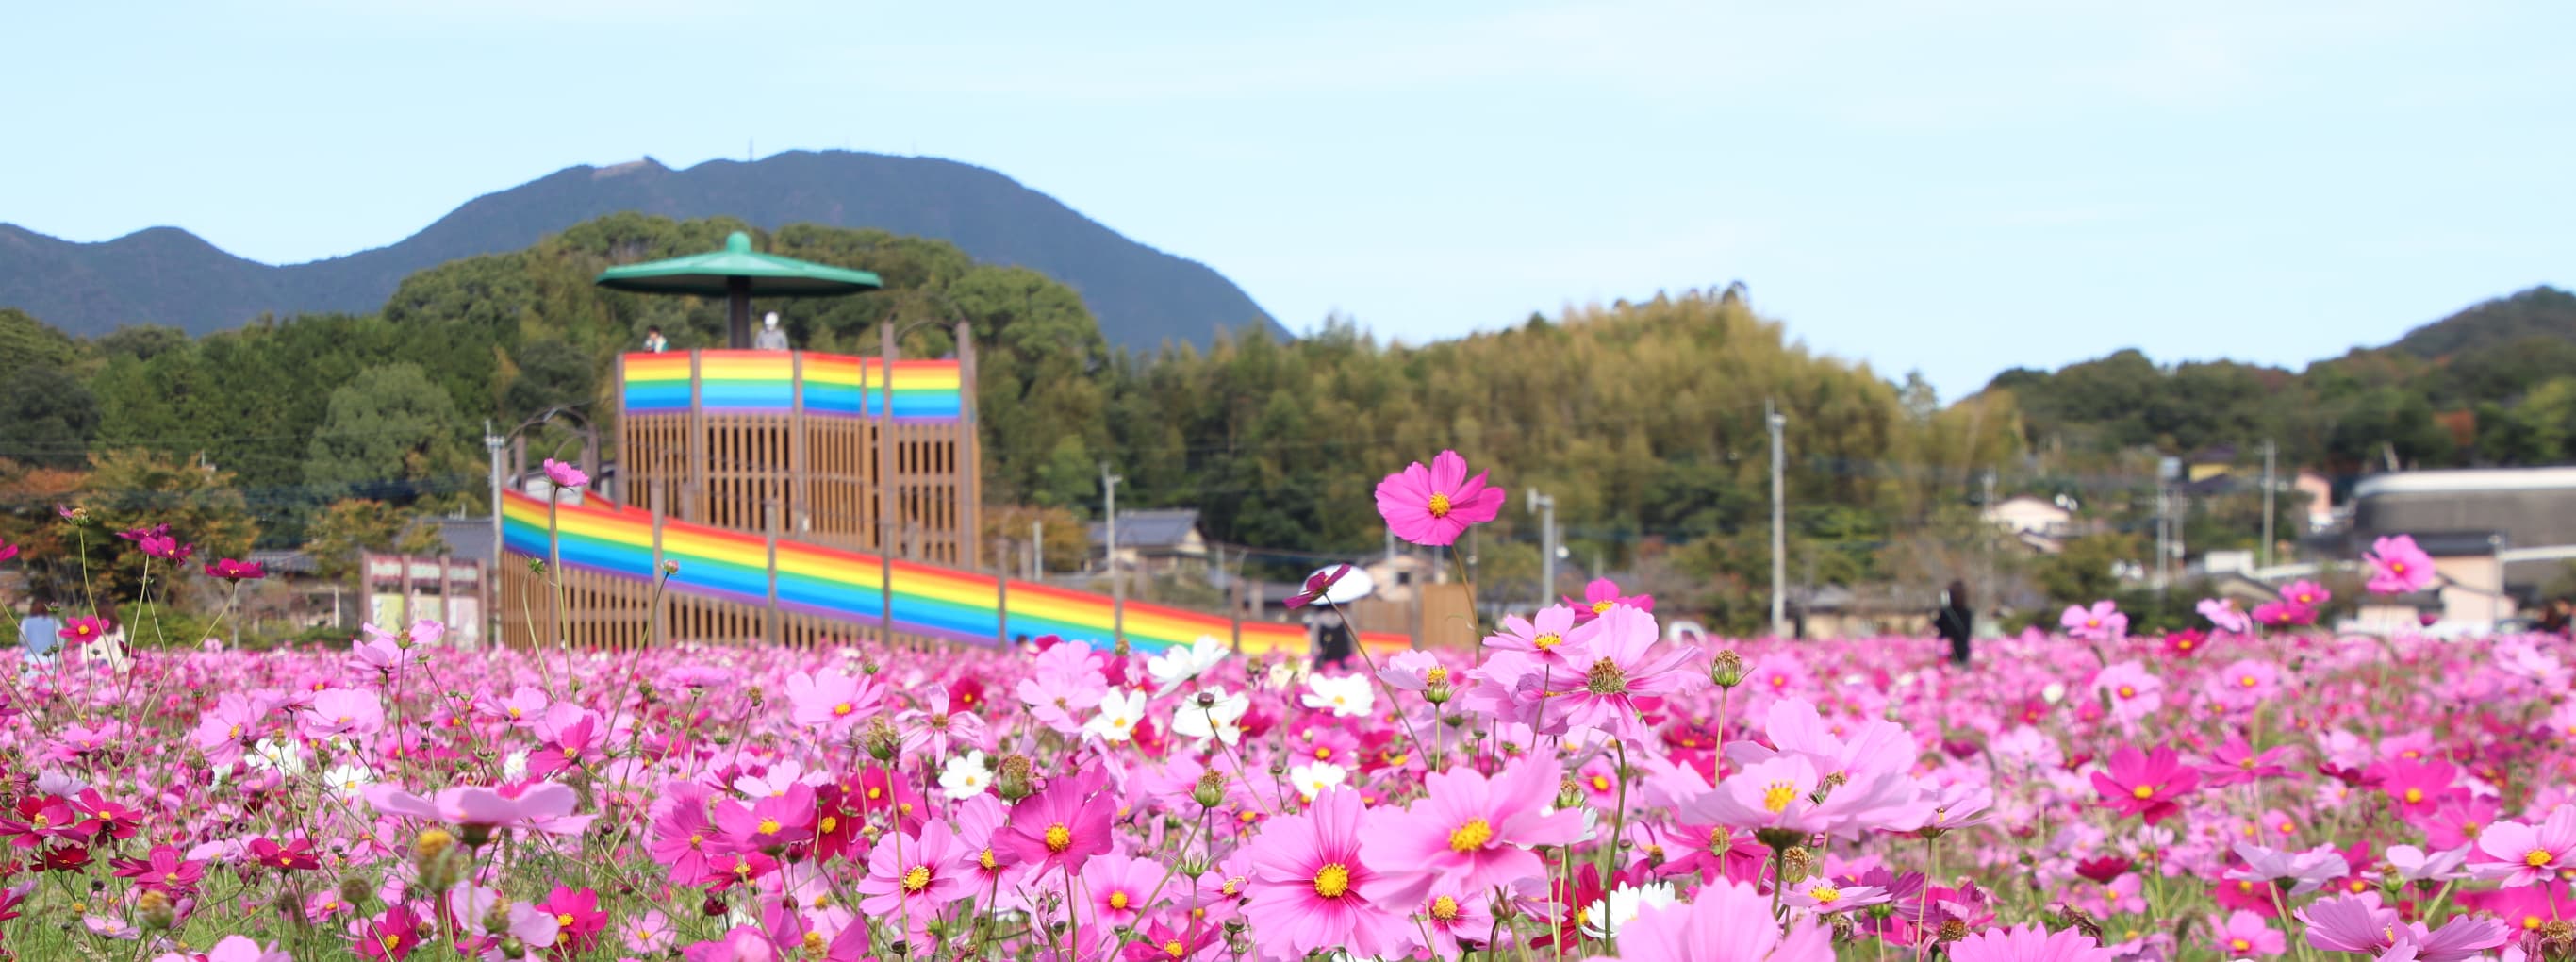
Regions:
<svg viewBox="0 0 2576 962"><path fill-rule="evenodd" d="M1453 338L1741 279L1808 346L1958 397L2125 346L2303 364L2576 281L2571 26L2372 0L57 3L13 13L0 222L294 263L577 162L935 155L1296 330Z"/></svg>

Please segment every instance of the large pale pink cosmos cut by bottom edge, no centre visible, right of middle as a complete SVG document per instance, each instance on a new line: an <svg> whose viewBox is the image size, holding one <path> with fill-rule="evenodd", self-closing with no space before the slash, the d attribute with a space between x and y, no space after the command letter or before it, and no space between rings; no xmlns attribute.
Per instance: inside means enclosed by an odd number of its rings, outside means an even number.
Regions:
<svg viewBox="0 0 2576 962"><path fill-rule="evenodd" d="M1965 944L1965 941L1960 941ZM1958 947L1950 952L1958 957ZM1832 934L1816 916L1798 916L1788 931L1770 916L1770 895L1752 885L1723 879L1703 887L1687 905L1643 908L1618 928L1620 962L1832 962ZM1965 959L1981 962L1981 959ZM1996 959L1984 959L1996 962ZM2110 962L2045 959L2045 962Z"/></svg>

